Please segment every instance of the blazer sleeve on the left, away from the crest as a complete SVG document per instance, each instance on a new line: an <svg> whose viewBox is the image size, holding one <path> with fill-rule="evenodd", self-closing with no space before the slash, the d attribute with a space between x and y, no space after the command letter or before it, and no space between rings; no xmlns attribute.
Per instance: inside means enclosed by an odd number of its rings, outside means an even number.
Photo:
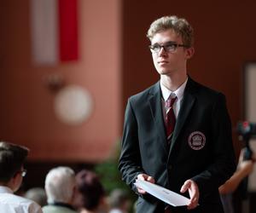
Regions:
<svg viewBox="0 0 256 213"><path fill-rule="evenodd" d="M131 99L129 99L125 109L125 124L119 158L119 170L122 174L122 179L136 193L137 187L133 183L137 179L137 175L144 173L141 165L137 130L137 119L131 107Z"/></svg>

